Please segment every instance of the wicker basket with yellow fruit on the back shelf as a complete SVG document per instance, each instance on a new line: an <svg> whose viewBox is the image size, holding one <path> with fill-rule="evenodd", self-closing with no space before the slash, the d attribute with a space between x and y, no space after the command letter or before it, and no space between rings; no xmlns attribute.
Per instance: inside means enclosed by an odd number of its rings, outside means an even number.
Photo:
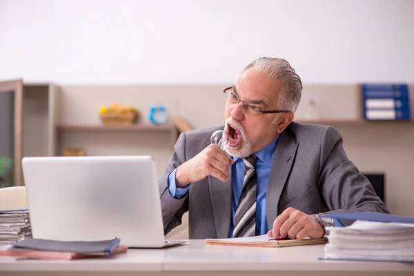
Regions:
<svg viewBox="0 0 414 276"><path fill-rule="evenodd" d="M132 106L121 106L118 103L99 108L99 116L103 124L128 125L135 124L139 117L139 111Z"/></svg>

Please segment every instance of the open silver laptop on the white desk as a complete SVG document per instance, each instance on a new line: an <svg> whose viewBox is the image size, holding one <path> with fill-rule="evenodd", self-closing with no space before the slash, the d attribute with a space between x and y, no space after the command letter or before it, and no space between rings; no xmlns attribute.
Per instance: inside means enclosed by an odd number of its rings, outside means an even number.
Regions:
<svg viewBox="0 0 414 276"><path fill-rule="evenodd" d="M161 248L167 241L155 160L130 157L24 157L32 236L61 241L119 237L121 244Z"/></svg>

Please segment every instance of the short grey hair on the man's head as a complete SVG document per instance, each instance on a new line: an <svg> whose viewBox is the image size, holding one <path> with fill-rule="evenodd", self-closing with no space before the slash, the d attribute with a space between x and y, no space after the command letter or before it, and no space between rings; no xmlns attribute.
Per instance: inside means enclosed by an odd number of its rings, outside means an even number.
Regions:
<svg viewBox="0 0 414 276"><path fill-rule="evenodd" d="M282 82L282 93L279 95L280 108L296 112L302 97L302 81L288 61L272 57L259 57L244 68L242 74L249 68L264 72L269 79Z"/></svg>

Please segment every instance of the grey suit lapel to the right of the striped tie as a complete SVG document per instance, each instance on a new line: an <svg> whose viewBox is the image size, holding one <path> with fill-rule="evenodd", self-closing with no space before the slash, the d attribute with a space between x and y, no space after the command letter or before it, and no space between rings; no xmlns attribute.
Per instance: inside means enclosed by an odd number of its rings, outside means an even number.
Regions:
<svg viewBox="0 0 414 276"><path fill-rule="evenodd" d="M273 228L273 221L278 215L277 207L280 195L282 195L282 190L290 174L298 146L299 143L296 143L295 137L290 134L289 129L282 132L279 141L277 141L266 190L266 213L269 229Z"/></svg>

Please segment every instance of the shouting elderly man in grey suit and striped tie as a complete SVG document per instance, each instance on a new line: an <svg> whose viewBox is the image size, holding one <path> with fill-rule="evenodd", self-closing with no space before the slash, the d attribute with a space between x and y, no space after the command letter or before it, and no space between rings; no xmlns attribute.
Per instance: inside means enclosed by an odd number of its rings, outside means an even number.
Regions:
<svg viewBox="0 0 414 276"><path fill-rule="evenodd" d="M335 225L324 213L389 213L335 128L293 122L302 82L288 61L256 59L224 93L226 124L182 133L159 180L166 234L186 211L193 239L319 238ZM225 150L210 144L220 129Z"/></svg>

